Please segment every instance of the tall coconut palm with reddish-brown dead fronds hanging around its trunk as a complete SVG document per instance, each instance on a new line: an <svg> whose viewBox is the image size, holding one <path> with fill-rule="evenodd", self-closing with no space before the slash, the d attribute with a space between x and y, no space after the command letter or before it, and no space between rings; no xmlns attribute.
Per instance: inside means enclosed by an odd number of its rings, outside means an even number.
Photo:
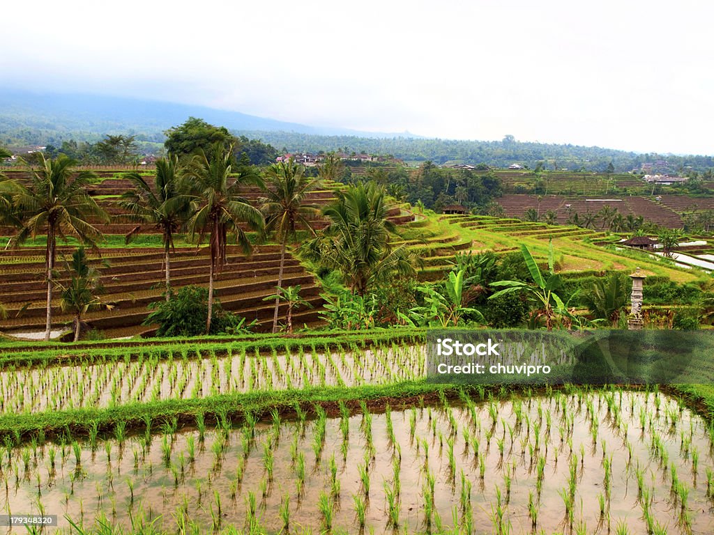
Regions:
<svg viewBox="0 0 714 535"><path fill-rule="evenodd" d="M193 213L188 219L188 232L198 235L200 244L208 235L210 247L210 267L208 270L208 317L206 334L211 332L211 314L213 313L213 278L221 272L226 263L226 245L228 233L234 233L236 243L245 253L250 253L251 242L241 228L247 223L253 230L263 230L265 221L261 213L241 197L241 186L249 183L261 183L260 177L252 168L243 168L231 182L233 171L233 147L227 151L221 143L216 143L208 151L199 151L188 163L186 185L192 195Z"/></svg>

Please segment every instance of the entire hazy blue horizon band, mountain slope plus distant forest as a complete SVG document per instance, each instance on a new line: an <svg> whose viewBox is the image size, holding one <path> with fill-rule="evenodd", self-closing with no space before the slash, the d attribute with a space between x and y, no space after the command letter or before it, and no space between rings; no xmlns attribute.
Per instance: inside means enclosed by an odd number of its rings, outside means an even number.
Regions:
<svg viewBox="0 0 714 535"><path fill-rule="evenodd" d="M164 142L164 131L189 116L226 126L248 138L260 139L278 149L296 151L354 151L392 155L405 161L434 163L487 163L505 167L520 163L534 168L545 162L548 169L615 170L641 168L660 162L658 169L684 173L688 168L714 167L711 156L673 156L635 153L598 146L516 141L471 141L423 138L409 133L369 133L339 128L318 128L276 121L236 111L205 106L149 101L136 98L0 90L0 144L54 145L62 141L99 141L105 134L133 134L143 151L155 152Z"/></svg>

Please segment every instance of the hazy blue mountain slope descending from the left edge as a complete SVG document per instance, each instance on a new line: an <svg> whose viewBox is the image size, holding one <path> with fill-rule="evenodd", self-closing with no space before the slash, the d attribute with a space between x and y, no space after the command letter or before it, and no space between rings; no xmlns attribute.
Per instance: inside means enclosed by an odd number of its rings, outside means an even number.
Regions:
<svg viewBox="0 0 714 535"><path fill-rule="evenodd" d="M136 133L143 141L162 141L162 132L183 123L189 116L229 130L283 131L325 136L393 137L409 133L361 132L346 128L321 128L287 123L237 111L218 110L137 98L84 95L78 93L33 93L0 90L0 141L16 138L24 131L36 139L14 142L56 143L78 134ZM24 137L26 137L24 136ZM94 137L90 136L90 137Z"/></svg>

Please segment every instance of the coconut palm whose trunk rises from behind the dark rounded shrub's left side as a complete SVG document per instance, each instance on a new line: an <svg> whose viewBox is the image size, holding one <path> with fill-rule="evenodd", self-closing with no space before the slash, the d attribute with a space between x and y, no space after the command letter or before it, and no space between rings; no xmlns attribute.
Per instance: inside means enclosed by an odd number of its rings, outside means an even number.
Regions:
<svg viewBox="0 0 714 535"><path fill-rule="evenodd" d="M121 200L117 203L127 212L121 217L150 225L161 231L161 239L164 242L167 301L171 291L169 263L171 250L174 250L174 235L181 230L183 224L188 220L188 216L191 215L191 196L181 188L181 172L178 156L172 155L156 161L154 188L151 188L139 173L126 173L124 176L131 180L134 190L121 195ZM142 230L142 225L131 230L126 235L126 243L129 243Z"/></svg>

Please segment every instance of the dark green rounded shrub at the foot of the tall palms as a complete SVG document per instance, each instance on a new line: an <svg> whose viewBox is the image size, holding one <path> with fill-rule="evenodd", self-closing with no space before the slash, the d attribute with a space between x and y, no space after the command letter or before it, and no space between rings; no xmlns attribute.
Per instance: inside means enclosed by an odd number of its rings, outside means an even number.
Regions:
<svg viewBox="0 0 714 535"><path fill-rule="evenodd" d="M156 336L197 336L206 332L208 317L208 290L198 286L183 286L171 291L169 300L153 302L153 310L144 320L144 325L159 324ZM221 332L235 334L248 330L245 319L232 312L226 312L221 302L213 300L211 335Z"/></svg>

